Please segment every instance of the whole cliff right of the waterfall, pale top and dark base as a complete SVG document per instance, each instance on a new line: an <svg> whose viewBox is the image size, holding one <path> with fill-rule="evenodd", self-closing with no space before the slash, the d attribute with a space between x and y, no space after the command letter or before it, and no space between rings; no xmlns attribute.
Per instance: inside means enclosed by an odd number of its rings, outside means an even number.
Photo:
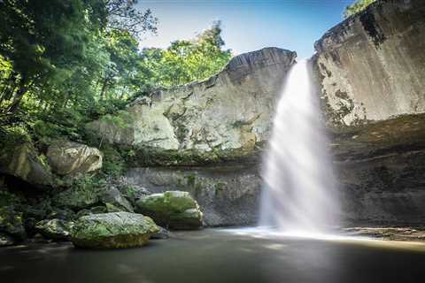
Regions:
<svg viewBox="0 0 425 283"><path fill-rule="evenodd" d="M344 218L423 224L425 2L382 0L316 42Z"/></svg>

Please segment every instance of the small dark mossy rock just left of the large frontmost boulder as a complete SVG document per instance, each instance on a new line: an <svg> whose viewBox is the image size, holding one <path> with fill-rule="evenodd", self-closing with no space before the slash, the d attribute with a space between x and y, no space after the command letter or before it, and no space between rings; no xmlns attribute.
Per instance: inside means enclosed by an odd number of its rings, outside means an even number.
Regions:
<svg viewBox="0 0 425 283"><path fill-rule="evenodd" d="M42 220L35 225L35 229L44 237L54 240L68 240L72 227L72 221L58 218Z"/></svg>

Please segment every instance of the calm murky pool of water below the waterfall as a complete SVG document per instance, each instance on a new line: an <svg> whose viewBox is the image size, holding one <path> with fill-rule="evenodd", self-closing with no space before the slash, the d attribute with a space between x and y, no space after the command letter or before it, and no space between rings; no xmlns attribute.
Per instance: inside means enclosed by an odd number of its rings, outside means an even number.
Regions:
<svg viewBox="0 0 425 283"><path fill-rule="evenodd" d="M255 229L175 233L138 249L0 249L1 282L423 282L425 244Z"/></svg>

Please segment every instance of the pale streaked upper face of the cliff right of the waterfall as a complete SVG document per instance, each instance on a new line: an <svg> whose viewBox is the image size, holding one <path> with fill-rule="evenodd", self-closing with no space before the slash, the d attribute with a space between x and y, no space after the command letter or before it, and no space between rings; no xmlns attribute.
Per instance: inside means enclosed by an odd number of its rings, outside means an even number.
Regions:
<svg viewBox="0 0 425 283"><path fill-rule="evenodd" d="M328 125L425 112L425 2L377 1L315 43Z"/></svg>

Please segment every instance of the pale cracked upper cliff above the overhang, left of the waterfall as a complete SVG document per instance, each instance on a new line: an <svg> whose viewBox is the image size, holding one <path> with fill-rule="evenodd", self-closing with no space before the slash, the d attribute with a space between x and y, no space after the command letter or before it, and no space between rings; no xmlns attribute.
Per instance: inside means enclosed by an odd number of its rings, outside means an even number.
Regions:
<svg viewBox="0 0 425 283"><path fill-rule="evenodd" d="M250 156L267 140L274 104L296 53L277 48L230 60L208 80L132 103L87 125L98 139L137 149L135 164L205 164Z"/></svg>

